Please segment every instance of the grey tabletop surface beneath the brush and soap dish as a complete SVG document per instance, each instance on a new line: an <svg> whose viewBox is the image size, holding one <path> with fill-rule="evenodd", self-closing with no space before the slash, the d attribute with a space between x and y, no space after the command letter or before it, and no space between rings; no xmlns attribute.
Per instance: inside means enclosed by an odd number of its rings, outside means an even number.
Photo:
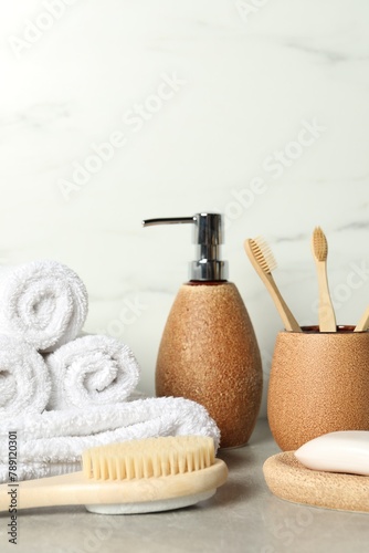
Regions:
<svg viewBox="0 0 369 553"><path fill-rule="evenodd" d="M367 552L369 514L288 503L267 489L262 466L278 452L265 420L250 444L224 450L229 480L196 507L152 514L99 515L83 507L19 513L18 543L0 517L0 551L17 553Z"/></svg>

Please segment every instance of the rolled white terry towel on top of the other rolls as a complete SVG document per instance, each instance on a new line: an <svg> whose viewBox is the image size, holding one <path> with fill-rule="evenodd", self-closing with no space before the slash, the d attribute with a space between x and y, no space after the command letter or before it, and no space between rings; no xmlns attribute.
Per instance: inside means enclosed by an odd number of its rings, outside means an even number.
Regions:
<svg viewBox="0 0 369 553"><path fill-rule="evenodd" d="M51 351L74 340L87 316L80 276L56 261L33 261L0 271L0 332Z"/></svg>

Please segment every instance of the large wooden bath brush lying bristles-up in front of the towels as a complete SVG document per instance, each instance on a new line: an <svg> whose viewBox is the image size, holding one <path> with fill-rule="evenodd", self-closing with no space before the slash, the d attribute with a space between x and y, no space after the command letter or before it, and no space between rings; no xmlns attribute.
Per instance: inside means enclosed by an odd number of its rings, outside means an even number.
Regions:
<svg viewBox="0 0 369 553"><path fill-rule="evenodd" d="M0 486L0 512L85 504L101 514L157 512L212 497L228 476L204 436L130 440L86 450L83 470ZM18 501L19 500L19 501ZM17 504L18 503L18 504Z"/></svg>

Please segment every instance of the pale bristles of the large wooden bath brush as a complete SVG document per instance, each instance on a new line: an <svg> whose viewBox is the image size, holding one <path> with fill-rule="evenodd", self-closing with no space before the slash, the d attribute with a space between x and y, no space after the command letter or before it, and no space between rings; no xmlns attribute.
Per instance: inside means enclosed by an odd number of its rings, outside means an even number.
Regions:
<svg viewBox="0 0 369 553"><path fill-rule="evenodd" d="M205 436L129 440L87 449L83 472L94 480L130 480L192 472L214 463L214 441Z"/></svg>

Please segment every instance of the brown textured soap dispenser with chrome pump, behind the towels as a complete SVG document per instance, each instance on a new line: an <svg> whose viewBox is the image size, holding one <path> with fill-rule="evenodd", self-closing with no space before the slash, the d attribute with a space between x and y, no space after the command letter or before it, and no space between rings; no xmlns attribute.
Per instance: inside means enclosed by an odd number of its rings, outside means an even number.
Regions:
<svg viewBox="0 0 369 553"><path fill-rule="evenodd" d="M221 261L222 216L148 219L154 225L191 223L197 260L170 310L156 365L158 396L203 405L221 431L221 448L249 441L259 414L263 373L255 333L242 298Z"/></svg>

